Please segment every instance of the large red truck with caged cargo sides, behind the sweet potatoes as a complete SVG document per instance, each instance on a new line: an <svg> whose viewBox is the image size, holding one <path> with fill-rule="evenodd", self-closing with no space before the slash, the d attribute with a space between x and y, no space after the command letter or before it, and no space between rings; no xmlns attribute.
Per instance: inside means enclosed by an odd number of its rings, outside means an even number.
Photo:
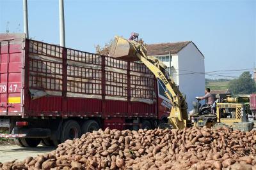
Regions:
<svg viewBox="0 0 256 170"><path fill-rule="evenodd" d="M163 85L143 64L0 34L0 134L58 145L89 131L168 120Z"/></svg>

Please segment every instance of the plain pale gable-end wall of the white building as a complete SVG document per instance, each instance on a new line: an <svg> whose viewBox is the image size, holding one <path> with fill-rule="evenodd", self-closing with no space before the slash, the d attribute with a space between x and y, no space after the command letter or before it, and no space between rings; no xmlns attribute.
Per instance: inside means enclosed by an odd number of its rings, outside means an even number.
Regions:
<svg viewBox="0 0 256 170"><path fill-rule="evenodd" d="M189 43L180 50L177 59L179 60L179 89L187 96L188 110L192 110L195 97L204 96L204 56L193 43Z"/></svg>

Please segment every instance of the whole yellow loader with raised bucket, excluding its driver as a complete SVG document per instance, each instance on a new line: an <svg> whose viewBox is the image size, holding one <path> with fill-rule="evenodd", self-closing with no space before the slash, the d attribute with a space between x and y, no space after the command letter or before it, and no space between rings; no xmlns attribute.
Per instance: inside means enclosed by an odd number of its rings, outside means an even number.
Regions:
<svg viewBox="0 0 256 170"><path fill-rule="evenodd" d="M183 129L184 127L191 126L203 127L205 125L207 127L220 127L224 125L242 131L243 129L246 129L244 131L250 131L252 129L253 123L248 122L248 113L243 109L246 105L243 103L217 103L216 113L207 113L204 115L200 114L200 110L197 108L198 115L188 118L186 97L180 92L175 82L168 75L165 64L156 57L147 56L145 46L138 42L138 34L132 34L129 40L116 36L111 45L109 56L127 61L140 60L158 80L164 83L166 87L165 95L172 105L168 123L172 125L173 129ZM227 115L225 114L226 112L232 111L236 118L230 116L225 117Z"/></svg>

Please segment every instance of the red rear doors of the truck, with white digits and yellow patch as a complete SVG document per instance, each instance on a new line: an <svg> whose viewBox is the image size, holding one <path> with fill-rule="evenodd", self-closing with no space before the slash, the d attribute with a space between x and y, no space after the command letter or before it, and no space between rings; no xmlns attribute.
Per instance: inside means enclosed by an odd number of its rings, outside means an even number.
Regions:
<svg viewBox="0 0 256 170"><path fill-rule="evenodd" d="M1 38L3 37L1 36ZM18 40L18 43L8 36L5 38L8 41L0 43L0 115L19 115L23 98L20 94L22 88L22 40Z"/></svg>

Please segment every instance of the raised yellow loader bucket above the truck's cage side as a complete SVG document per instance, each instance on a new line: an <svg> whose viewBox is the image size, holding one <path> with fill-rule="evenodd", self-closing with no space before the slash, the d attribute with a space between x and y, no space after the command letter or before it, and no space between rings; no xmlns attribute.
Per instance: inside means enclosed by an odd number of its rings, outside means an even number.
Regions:
<svg viewBox="0 0 256 170"><path fill-rule="evenodd" d="M138 50L136 48L142 48L143 52L146 53L145 46L140 43L124 39L120 36L115 36L110 48L109 56L127 61L136 61L139 60L136 55L136 51Z"/></svg>

